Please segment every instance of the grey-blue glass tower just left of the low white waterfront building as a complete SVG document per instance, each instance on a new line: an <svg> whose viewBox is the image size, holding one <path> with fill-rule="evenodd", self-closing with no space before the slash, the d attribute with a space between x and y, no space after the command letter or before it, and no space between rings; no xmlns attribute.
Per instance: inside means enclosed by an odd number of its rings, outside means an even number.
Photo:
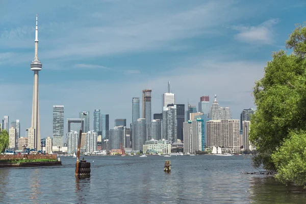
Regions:
<svg viewBox="0 0 306 204"><path fill-rule="evenodd" d="M132 148L133 151L143 150L143 145L146 141L146 119L138 118L137 121L133 123L133 134L132 134Z"/></svg>

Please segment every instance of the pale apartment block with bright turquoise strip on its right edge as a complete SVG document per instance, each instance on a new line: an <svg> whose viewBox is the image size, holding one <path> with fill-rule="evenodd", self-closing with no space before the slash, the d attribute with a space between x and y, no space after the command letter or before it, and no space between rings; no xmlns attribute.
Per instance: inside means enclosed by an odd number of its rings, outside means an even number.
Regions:
<svg viewBox="0 0 306 204"><path fill-rule="evenodd" d="M184 122L184 152L195 154L202 151L202 142L205 141L205 127L203 119Z"/></svg>

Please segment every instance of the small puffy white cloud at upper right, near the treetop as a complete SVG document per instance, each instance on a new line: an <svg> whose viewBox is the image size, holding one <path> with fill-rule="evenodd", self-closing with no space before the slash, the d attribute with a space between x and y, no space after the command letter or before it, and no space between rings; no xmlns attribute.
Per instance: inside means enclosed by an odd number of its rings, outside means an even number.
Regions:
<svg viewBox="0 0 306 204"><path fill-rule="evenodd" d="M272 44L273 25L277 22L278 19L270 19L257 26L234 26L233 29L239 31L235 38L250 44Z"/></svg>

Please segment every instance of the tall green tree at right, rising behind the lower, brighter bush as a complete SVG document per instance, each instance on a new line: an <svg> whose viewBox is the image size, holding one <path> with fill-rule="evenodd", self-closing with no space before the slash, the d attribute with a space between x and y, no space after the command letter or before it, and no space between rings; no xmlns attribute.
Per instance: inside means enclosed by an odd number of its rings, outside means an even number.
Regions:
<svg viewBox="0 0 306 204"><path fill-rule="evenodd" d="M304 26L296 27L286 41L286 47L292 48L293 53L287 55L284 50L273 53L272 61L265 67L264 77L256 82L253 90L257 111L251 117L249 134L250 141L258 150L253 165L259 167L263 164L266 170L277 170L279 180L285 172L280 169L288 168L278 163L279 152L294 133L301 134L296 131L306 131L305 34ZM298 149L292 150L295 154ZM295 173L294 169L287 170Z"/></svg>

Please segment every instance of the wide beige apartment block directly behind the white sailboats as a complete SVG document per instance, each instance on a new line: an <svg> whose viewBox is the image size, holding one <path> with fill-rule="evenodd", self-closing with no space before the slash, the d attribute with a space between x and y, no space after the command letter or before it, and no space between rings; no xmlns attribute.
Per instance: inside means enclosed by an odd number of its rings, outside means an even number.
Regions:
<svg viewBox="0 0 306 204"><path fill-rule="evenodd" d="M224 146L234 152L240 151L239 120L210 120L207 121L207 146Z"/></svg>

